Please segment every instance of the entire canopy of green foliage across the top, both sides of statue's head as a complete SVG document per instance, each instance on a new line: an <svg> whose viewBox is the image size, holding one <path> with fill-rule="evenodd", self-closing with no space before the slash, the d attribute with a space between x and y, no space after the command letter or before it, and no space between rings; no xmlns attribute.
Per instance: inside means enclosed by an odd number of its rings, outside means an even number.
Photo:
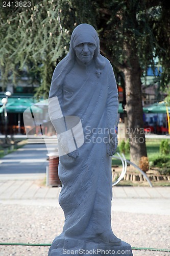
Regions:
<svg viewBox="0 0 170 256"><path fill-rule="evenodd" d="M18 67L22 70L32 63L32 70L37 70L40 77L37 95L47 95L54 68L68 53L71 32L80 23L89 23L98 30L101 52L115 66L122 84L122 70L131 67L133 57L127 54L127 42L129 47L135 42L133 50L142 70L153 65L153 57L159 54L165 67L163 77L167 81L170 47L165 3L35 0L31 1L31 8L0 8L0 69L4 86L9 73L13 73L15 80Z"/></svg>

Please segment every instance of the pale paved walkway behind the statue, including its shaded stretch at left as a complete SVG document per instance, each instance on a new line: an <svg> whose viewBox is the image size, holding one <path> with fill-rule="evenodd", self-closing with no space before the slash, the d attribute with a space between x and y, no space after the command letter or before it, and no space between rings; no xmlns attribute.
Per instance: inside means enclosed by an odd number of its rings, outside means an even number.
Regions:
<svg viewBox="0 0 170 256"><path fill-rule="evenodd" d="M51 145L51 149L53 145ZM61 188L47 187L45 144L26 144L0 160L0 203L59 207ZM102 188L101 188L102 189ZM114 186L112 204L116 211L170 215L169 187Z"/></svg>

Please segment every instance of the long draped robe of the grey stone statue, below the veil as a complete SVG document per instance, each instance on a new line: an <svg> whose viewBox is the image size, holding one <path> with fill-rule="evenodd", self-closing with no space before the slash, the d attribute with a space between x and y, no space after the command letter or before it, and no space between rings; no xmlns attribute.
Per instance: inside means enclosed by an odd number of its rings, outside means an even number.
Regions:
<svg viewBox="0 0 170 256"><path fill-rule="evenodd" d="M95 240L111 229L112 173L106 144L117 124L118 94L112 66L102 58L101 70L75 60L64 78L57 79L66 66L65 58L52 78L50 98L58 97L63 116L80 118L84 134L77 158L59 157L59 203L65 215L60 237Z"/></svg>

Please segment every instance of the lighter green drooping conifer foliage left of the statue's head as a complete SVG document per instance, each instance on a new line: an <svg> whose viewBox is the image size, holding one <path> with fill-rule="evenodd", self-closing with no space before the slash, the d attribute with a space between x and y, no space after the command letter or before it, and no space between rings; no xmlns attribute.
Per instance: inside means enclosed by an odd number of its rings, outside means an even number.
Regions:
<svg viewBox="0 0 170 256"><path fill-rule="evenodd" d="M69 51L72 30L80 23L94 25L95 18L89 0L31 3L31 8L1 9L0 69L5 86L9 74L15 82L23 67L30 72L31 63L40 76L37 96L47 97L53 71Z"/></svg>

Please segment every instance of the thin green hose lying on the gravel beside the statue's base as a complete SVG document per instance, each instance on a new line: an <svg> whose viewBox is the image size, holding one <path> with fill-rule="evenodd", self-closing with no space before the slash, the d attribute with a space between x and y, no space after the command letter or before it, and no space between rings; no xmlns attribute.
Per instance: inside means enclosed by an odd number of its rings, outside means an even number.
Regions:
<svg viewBox="0 0 170 256"><path fill-rule="evenodd" d="M51 244L29 244L29 243L0 243L0 245L21 245L21 246L51 246ZM132 247L132 250L149 250L149 251L163 251L170 252L170 249Z"/></svg>

